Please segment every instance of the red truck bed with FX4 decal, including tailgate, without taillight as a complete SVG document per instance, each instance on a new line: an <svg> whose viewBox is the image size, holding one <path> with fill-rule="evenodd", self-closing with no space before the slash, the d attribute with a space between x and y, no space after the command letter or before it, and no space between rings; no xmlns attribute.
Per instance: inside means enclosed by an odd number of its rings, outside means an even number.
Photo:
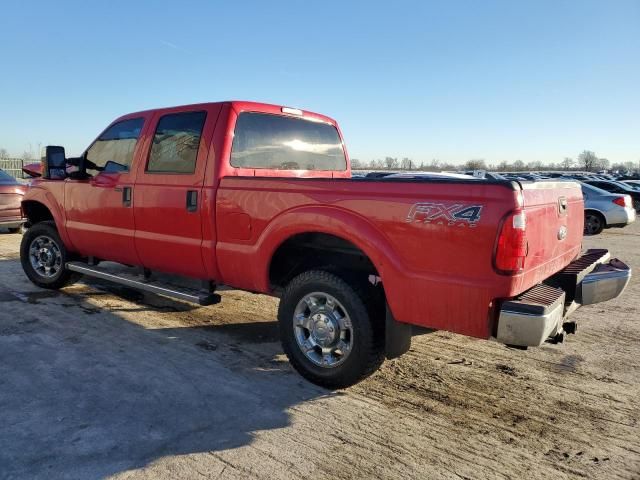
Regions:
<svg viewBox="0 0 640 480"><path fill-rule="evenodd" d="M504 275L493 264L496 239L517 209L527 215L528 255L522 272ZM270 292L268 261L282 242L298 232L333 235L371 259L397 320L487 338L497 299L579 254L582 221L572 182L225 177L216 258L225 283Z"/></svg>

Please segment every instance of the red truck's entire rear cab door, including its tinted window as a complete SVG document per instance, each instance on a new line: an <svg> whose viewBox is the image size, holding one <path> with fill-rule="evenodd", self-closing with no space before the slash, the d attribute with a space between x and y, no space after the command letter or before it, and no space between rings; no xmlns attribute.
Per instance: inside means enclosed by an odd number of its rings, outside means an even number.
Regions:
<svg viewBox="0 0 640 480"><path fill-rule="evenodd" d="M146 268L206 278L202 188L219 106L163 110L133 192L135 244Z"/></svg>

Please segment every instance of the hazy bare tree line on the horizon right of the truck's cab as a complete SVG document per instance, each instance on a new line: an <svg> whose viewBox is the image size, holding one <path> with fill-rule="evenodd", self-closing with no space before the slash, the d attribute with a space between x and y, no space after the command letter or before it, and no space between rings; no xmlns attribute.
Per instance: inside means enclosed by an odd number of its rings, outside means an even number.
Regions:
<svg viewBox="0 0 640 480"><path fill-rule="evenodd" d="M611 162L606 158L599 158L594 152L584 150L575 159L565 157L559 162L543 163L541 161L514 162L503 161L500 163L487 163L486 160L472 159L456 165L448 162L441 162L433 159L430 162L415 162L408 157L402 159L396 157L385 157L384 159L374 159L363 162L357 158L351 160L351 168L356 170L420 170L425 172L440 172L442 170L490 170L494 172L531 172L549 170L579 170L594 172L599 170L617 171L638 171L638 162Z"/></svg>

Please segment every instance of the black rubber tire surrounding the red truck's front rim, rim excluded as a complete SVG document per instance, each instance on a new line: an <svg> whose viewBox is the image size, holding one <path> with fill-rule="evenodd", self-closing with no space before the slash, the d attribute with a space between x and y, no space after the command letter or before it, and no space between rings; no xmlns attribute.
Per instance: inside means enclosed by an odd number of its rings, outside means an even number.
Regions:
<svg viewBox="0 0 640 480"><path fill-rule="evenodd" d="M57 260L53 265L57 269L50 276L46 276L44 272L37 271L31 262L30 249L36 239L48 239L49 243L47 245L54 245L58 249L59 259L55 255ZM54 248L51 247L51 250L54 250ZM81 275L64 268L64 265L69 260L72 260L71 255L67 252L60 235L58 235L55 222L36 223L24 233L20 244L20 263L29 280L38 287L57 290L76 282Z"/></svg>

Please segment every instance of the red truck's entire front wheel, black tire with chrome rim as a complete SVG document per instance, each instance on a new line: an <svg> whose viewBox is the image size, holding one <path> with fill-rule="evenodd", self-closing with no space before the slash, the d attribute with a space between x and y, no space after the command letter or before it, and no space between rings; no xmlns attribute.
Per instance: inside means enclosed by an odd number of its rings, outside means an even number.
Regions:
<svg viewBox="0 0 640 480"><path fill-rule="evenodd" d="M23 235L20 263L35 285L57 290L75 282L79 275L65 268L68 260L69 253L54 222L36 223Z"/></svg>

